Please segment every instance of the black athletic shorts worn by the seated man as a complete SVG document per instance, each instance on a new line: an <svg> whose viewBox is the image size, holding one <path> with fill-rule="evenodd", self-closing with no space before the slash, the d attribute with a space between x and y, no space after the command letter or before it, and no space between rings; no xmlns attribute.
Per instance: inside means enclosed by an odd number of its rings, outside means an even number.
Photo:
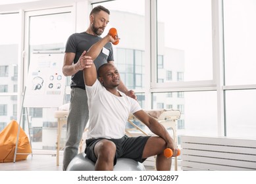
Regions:
<svg viewBox="0 0 256 184"><path fill-rule="evenodd" d="M116 156L114 161L114 166L116 164L117 158L132 158L138 162L144 162L146 158L142 159L143 150L145 144L147 143L147 139L150 136L140 136L140 137L128 137L124 135L121 139L107 139L112 141L116 145ZM94 147L96 143L105 138L99 139L87 139L86 140L86 156L96 162L97 158L94 154Z"/></svg>

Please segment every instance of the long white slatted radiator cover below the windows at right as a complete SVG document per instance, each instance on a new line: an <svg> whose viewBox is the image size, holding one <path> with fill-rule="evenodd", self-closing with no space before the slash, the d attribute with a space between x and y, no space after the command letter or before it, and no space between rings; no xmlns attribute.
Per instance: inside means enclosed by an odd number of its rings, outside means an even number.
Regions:
<svg viewBox="0 0 256 184"><path fill-rule="evenodd" d="M256 170L256 140L181 136L182 170Z"/></svg>

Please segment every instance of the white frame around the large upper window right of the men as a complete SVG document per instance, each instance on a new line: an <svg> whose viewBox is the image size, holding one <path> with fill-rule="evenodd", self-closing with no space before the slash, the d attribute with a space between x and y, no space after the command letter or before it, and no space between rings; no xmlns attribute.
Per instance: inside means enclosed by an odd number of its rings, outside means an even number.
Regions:
<svg viewBox="0 0 256 184"><path fill-rule="evenodd" d="M222 0L211 1L213 40L213 80L157 83L157 1L151 1L151 89L150 93L178 91L217 91L218 135L225 135L223 90Z"/></svg>

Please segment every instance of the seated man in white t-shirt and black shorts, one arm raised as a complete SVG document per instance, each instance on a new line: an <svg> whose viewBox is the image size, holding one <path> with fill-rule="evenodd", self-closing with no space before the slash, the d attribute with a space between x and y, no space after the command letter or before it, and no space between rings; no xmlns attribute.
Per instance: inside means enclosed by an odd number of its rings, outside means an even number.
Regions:
<svg viewBox="0 0 256 184"><path fill-rule="evenodd" d="M116 158L143 162L149 156L157 155L157 170L170 170L172 159L166 158L163 150L170 148L176 156L178 149L165 127L141 110L136 100L117 90L120 75L113 64L103 64L98 70L97 80L92 60L105 49L106 43L115 43L117 39L106 35L80 57L88 60L88 68L84 69L90 117L86 156L95 162L95 170L113 170ZM158 136L127 137L124 132L130 113Z"/></svg>

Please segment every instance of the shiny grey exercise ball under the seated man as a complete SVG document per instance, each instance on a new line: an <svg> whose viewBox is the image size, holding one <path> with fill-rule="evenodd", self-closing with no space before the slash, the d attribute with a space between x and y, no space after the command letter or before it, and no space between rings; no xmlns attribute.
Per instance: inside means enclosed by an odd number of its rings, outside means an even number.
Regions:
<svg viewBox="0 0 256 184"><path fill-rule="evenodd" d="M95 164L85 156L85 153L76 155L68 164L67 171L94 171ZM145 171L145 167L140 162L130 158L118 158L114 171Z"/></svg>

